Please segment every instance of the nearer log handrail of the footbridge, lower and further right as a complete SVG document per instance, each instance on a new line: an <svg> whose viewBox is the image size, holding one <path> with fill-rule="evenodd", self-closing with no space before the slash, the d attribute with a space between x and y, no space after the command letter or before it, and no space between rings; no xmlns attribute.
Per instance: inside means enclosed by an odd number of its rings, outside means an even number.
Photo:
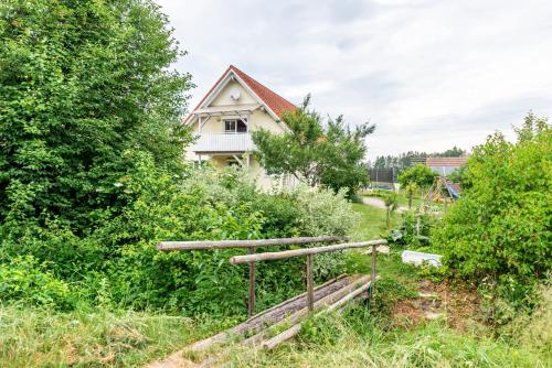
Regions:
<svg viewBox="0 0 552 368"><path fill-rule="evenodd" d="M277 251L277 252L256 253L256 255L248 255L248 256L235 256L235 257L230 258L230 263L240 264L240 263L247 263L247 262L258 262L258 261L284 259L284 258L299 257L299 256L307 256L307 255L326 253L326 252L330 252L330 251L344 250L344 249L351 249L351 248L365 248L365 247L371 247L371 246L381 246L381 245L385 245L385 243L388 243L386 240L376 239L376 240L370 240L370 241L346 242L346 243L341 243L341 245L323 246L323 247L316 247L316 248L284 250L284 251Z"/></svg>

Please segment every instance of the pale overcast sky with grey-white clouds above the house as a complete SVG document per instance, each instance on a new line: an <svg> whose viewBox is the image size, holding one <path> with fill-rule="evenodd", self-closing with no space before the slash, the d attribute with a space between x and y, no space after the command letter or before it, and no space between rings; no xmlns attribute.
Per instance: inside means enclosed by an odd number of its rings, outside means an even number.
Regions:
<svg viewBox="0 0 552 368"><path fill-rule="evenodd" d="M469 149L552 116L550 0L157 0L194 106L230 64L293 102L378 126L369 158Z"/></svg>

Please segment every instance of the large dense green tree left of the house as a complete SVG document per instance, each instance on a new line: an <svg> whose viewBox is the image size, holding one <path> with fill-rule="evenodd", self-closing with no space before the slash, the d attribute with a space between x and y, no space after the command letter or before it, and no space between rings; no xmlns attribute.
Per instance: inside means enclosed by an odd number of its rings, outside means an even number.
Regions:
<svg viewBox="0 0 552 368"><path fill-rule="evenodd" d="M179 173L190 75L148 0L0 2L0 221L120 212L132 154Z"/></svg>

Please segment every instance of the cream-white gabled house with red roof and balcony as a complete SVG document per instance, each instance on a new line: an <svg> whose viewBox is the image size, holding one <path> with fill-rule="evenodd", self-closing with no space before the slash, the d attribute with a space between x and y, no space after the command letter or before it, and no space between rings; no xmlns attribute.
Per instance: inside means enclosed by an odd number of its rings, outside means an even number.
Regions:
<svg viewBox="0 0 552 368"><path fill-rule="evenodd" d="M251 132L258 129L285 132L288 128L282 115L295 109L294 104L231 65L184 119L198 136L187 159L209 160L217 170L243 165L263 188L294 185L290 177L266 174L251 155L255 149Z"/></svg>

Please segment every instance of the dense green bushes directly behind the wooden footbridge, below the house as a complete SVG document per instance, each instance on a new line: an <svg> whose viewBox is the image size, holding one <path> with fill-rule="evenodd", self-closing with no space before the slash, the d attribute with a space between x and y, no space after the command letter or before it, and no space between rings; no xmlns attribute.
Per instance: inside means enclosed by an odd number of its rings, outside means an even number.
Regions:
<svg viewBox="0 0 552 368"><path fill-rule="evenodd" d="M0 227L0 261L32 255L89 303L240 314L245 311L247 268L230 264L229 258L245 250L161 253L156 243L343 235L355 220L343 193L301 187L268 194L240 172L216 174L209 167L176 182L160 175L148 154L135 155L135 162L120 190L137 199L121 214L95 212L94 226L84 235L59 218L43 226L7 223ZM316 267L319 280L335 275L342 272L342 257L317 257ZM259 307L302 290L302 272L301 259L259 264Z"/></svg>

